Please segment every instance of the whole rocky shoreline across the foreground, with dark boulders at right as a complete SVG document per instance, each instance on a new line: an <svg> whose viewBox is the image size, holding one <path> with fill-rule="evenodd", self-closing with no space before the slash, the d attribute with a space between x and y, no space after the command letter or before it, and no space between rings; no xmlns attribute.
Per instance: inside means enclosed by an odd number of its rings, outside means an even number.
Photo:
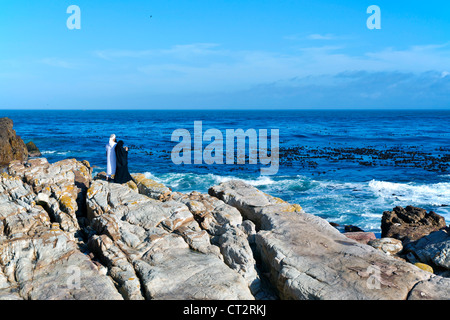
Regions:
<svg viewBox="0 0 450 320"><path fill-rule="evenodd" d="M93 177L76 159L9 161L0 299L450 298L449 229L434 213L386 211L374 239L240 180L185 194L133 179Z"/></svg>

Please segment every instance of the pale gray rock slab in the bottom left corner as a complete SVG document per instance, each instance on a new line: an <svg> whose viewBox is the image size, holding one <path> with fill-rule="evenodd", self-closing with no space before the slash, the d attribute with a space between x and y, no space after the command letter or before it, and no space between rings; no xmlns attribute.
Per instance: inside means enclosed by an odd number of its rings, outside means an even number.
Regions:
<svg viewBox="0 0 450 320"><path fill-rule="evenodd" d="M32 238L1 243L0 261L10 288L31 300L121 299L111 279L63 231L41 230Z"/></svg>

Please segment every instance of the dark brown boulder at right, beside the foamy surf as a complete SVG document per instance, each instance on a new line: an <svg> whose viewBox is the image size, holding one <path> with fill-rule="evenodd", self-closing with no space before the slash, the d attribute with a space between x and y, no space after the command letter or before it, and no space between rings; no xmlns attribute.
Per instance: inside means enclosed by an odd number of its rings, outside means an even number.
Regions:
<svg viewBox="0 0 450 320"><path fill-rule="evenodd" d="M413 206L395 207L392 211L383 212L381 237L395 238L408 243L445 227L444 217L434 211L427 212Z"/></svg>

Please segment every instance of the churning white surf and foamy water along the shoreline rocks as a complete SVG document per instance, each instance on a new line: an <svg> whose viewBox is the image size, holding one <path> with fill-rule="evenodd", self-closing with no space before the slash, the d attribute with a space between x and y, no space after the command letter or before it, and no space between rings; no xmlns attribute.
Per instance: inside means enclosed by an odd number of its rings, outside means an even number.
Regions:
<svg viewBox="0 0 450 320"><path fill-rule="evenodd" d="M221 182L242 180L264 192L291 203L306 212L339 224L354 224L364 230L379 232L383 211L395 206L413 205L432 208L450 219L450 183L414 184L372 180L370 182L318 181L298 176L260 176L239 178L215 174L166 173L147 178L170 186L175 191L207 192Z"/></svg>

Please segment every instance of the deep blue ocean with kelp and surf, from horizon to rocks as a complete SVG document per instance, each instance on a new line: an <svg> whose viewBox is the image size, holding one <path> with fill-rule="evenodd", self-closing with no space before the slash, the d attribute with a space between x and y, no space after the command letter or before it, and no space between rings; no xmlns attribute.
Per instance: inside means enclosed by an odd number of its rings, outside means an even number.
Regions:
<svg viewBox="0 0 450 320"><path fill-rule="evenodd" d="M414 205L450 221L450 111L442 110L2 110L25 142L50 162L88 160L106 171L114 133L129 146L130 172L175 191L207 192L242 179L308 213L380 233L383 211ZM260 164L181 164L171 160L176 129L279 130L279 170ZM207 143L205 143L207 145ZM270 141L269 141L270 147ZM225 149L225 148L224 148ZM225 154L224 154L225 157Z"/></svg>

